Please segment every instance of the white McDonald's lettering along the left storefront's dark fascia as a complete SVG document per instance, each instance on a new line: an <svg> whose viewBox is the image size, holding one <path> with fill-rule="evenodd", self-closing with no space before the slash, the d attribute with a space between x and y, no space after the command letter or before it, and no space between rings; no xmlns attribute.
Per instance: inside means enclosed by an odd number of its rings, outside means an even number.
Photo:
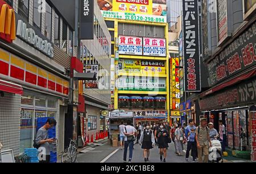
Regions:
<svg viewBox="0 0 256 174"><path fill-rule="evenodd" d="M35 30L27 28L27 24L22 20L18 20L16 35L33 45L36 49L45 53L47 56L51 58L54 56L52 43L40 38L39 35L36 35Z"/></svg>

